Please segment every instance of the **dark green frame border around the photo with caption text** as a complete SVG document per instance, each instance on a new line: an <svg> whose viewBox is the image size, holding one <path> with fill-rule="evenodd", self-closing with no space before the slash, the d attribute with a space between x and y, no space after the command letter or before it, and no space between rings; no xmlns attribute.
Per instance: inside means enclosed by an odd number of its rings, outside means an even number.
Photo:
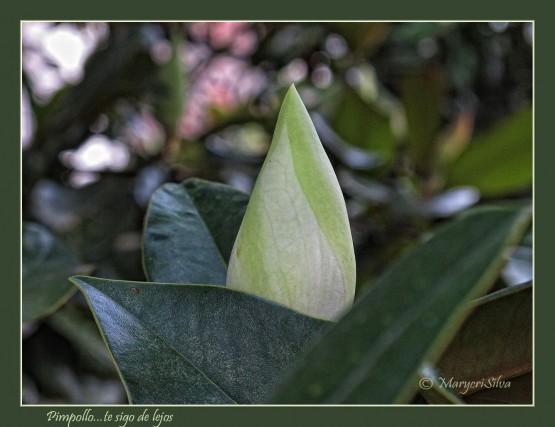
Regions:
<svg viewBox="0 0 555 427"><path fill-rule="evenodd" d="M535 407L508 408L448 408L448 407L161 407L166 414L173 414L171 423L164 425L212 426L251 425L263 422L268 426L288 423L319 426L380 425L472 425L495 421L495 425L522 425L531 420L538 422L542 414L549 414L551 401L549 364L554 360L553 350L548 347L552 334L548 334L550 322L547 314L552 312L546 305L553 298L553 286L544 280L547 276L547 218L553 218L553 207L549 203L552 194L550 174L553 167L548 163L555 159L545 124L551 119L550 93L553 93L551 49L554 39L553 25L547 7L530 3L484 2L411 2L403 5L395 2L368 2L341 0L335 6L322 2L302 4L298 0L279 2L233 1L194 4L187 2L154 2L152 5L114 0L96 0L90 3L75 1L39 2L20 0L4 5L0 26L1 52L1 155L3 198L2 213L2 422L12 426L64 426L66 423L47 422L46 413L57 410L61 413L82 413L85 407L20 407L20 335L19 335L19 247L20 247L20 145L19 145L19 80L20 80L20 21L21 20L534 20L535 21L535 225L536 234L536 277L535 299L536 321L536 389ZM8 9L11 8L11 9ZM545 9L545 10L544 10ZM549 49L549 51L548 51ZM551 146L551 148L549 148ZM544 237L545 236L545 237ZM95 415L125 411L140 414L143 408L92 407ZM153 411L154 408L151 408ZM541 413L541 414L540 414ZM539 416L539 417L538 417ZM533 418L532 418L533 417ZM538 422L539 423L539 422ZM88 423L88 425L100 423ZM108 423L108 425L118 423ZM73 425L77 425L73 423ZM152 423L130 423L128 426L149 426Z"/></svg>

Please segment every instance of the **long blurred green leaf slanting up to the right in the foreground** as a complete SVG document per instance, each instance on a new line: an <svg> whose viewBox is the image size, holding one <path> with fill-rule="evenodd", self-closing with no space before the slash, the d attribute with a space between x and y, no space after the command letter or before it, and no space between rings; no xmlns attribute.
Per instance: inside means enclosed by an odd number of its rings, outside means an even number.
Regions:
<svg viewBox="0 0 555 427"><path fill-rule="evenodd" d="M394 265L299 360L271 399L393 403L410 399L423 360L456 333L467 303L492 284L528 209L469 213Z"/></svg>

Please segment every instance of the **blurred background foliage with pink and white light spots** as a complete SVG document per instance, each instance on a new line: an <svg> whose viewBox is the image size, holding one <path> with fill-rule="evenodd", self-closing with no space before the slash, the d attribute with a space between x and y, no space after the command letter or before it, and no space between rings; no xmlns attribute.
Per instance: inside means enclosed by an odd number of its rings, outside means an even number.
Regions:
<svg viewBox="0 0 555 427"><path fill-rule="evenodd" d="M438 222L532 197L532 23L22 24L23 402L125 403L76 273L144 280L164 182L254 185L294 83L370 286ZM532 278L532 233L495 289Z"/></svg>

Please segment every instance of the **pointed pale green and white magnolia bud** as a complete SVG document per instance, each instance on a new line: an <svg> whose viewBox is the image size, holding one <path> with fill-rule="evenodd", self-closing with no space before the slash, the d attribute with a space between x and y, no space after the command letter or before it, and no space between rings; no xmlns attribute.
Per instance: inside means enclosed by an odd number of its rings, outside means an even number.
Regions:
<svg viewBox="0 0 555 427"><path fill-rule="evenodd" d="M233 247L227 286L336 319L353 303L355 274L339 183L291 86Z"/></svg>

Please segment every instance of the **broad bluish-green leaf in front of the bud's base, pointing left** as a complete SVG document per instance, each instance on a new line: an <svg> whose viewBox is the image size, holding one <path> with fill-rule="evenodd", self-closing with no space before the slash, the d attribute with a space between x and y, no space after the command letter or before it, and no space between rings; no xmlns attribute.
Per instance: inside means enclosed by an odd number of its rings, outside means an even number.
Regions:
<svg viewBox="0 0 555 427"><path fill-rule="evenodd" d="M260 403L328 324L221 286L72 281L133 403Z"/></svg>

